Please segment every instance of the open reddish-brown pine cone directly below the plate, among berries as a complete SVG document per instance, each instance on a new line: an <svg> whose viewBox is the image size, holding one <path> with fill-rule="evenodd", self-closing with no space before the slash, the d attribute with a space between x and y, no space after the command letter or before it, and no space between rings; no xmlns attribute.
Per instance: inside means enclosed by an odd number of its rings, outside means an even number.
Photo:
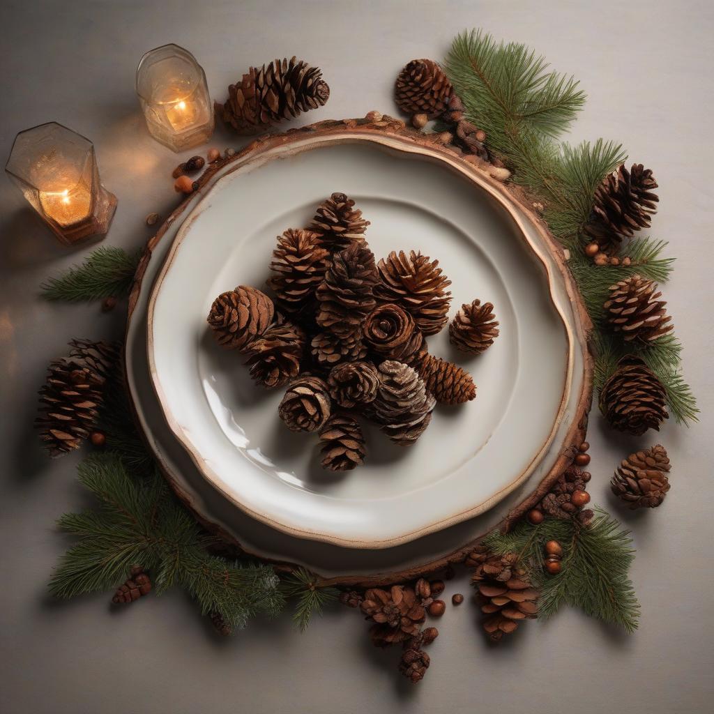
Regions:
<svg viewBox="0 0 714 714"><path fill-rule="evenodd" d="M407 585L392 585L389 590L370 588L364 593L360 609L375 623L369 634L377 647L393 645L417 635L421 623L426 620L426 610Z"/></svg>

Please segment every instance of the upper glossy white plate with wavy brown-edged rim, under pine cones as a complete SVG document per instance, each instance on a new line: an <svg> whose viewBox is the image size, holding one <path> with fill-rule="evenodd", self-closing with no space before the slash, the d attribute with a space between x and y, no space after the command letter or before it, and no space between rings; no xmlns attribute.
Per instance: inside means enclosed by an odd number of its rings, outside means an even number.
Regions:
<svg viewBox="0 0 714 714"><path fill-rule="evenodd" d="M543 246L473 177L423 156L415 163L404 152L385 153L378 143L326 140L319 151L266 161L249 174L256 164L234 166L184 221L149 310L156 391L201 473L259 521L353 548L386 548L446 528L523 483L548 453L573 375L564 321L571 307ZM476 401L437 409L408 450L368 430L368 463L340 476L316 466L315 440L277 418L281 393L254 387L205 322L221 291L261 286L276 234L304 225L335 190L353 196L372 221L367 237L377 256L421 248L451 277L454 311L478 296L496 305L501 322L493 348L465 363L479 386ZM430 349L454 357L445 333Z"/></svg>

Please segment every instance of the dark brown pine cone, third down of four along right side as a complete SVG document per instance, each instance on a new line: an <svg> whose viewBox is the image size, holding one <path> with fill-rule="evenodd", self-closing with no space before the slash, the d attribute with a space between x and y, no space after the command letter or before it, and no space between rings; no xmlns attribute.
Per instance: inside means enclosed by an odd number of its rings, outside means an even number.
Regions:
<svg viewBox="0 0 714 714"><path fill-rule="evenodd" d="M635 436L659 431L668 418L665 388L638 357L626 356L600 390L600 411L610 426Z"/></svg>

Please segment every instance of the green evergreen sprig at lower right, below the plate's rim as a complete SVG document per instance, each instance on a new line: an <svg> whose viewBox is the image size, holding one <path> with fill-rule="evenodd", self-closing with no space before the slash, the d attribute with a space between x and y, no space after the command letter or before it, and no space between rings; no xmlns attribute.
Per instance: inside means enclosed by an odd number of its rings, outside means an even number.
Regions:
<svg viewBox="0 0 714 714"><path fill-rule="evenodd" d="M548 540L563 546L558 575L544 574L543 546ZM558 518L546 518L538 526L521 521L510 533L489 534L484 544L498 555L518 553L540 590L538 617L549 618L561 605L572 605L628 633L638 627L640 605L628 577L635 550L629 531L608 513L595 509L588 526Z"/></svg>

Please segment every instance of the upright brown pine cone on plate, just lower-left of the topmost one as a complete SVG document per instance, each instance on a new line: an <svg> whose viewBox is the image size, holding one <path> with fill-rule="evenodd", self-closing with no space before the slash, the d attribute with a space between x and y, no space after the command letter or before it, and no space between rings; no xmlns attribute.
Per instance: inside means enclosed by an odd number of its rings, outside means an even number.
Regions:
<svg viewBox="0 0 714 714"><path fill-rule="evenodd" d="M305 306L323 281L328 251L321 248L317 233L288 228L278 236L268 285L278 296L283 311L295 313Z"/></svg>

